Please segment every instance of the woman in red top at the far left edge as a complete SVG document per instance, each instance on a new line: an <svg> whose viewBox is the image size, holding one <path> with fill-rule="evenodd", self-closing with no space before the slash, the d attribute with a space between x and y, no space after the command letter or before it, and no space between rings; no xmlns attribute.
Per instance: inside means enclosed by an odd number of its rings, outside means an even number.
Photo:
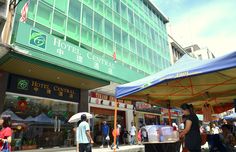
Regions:
<svg viewBox="0 0 236 152"><path fill-rule="evenodd" d="M10 115L4 115L0 117L0 151L11 152L11 117Z"/></svg>

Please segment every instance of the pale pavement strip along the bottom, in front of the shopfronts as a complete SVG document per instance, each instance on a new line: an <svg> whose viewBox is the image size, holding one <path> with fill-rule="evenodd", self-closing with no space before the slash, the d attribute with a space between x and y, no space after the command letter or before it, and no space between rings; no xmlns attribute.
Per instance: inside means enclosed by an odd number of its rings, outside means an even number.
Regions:
<svg viewBox="0 0 236 152"><path fill-rule="evenodd" d="M117 152L144 152L143 145L121 145L119 149L116 149ZM27 150L27 151L18 151L18 152L76 152L76 147L71 148L50 148L50 149L34 149L34 150ZM93 147L92 152L114 152L111 148L99 148Z"/></svg>

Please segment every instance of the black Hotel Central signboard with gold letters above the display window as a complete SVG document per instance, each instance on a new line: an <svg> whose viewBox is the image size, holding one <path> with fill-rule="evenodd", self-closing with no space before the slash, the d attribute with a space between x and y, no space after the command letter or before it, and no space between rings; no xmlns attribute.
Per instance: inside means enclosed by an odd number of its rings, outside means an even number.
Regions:
<svg viewBox="0 0 236 152"><path fill-rule="evenodd" d="M11 74L7 91L32 96L79 102L80 89Z"/></svg>

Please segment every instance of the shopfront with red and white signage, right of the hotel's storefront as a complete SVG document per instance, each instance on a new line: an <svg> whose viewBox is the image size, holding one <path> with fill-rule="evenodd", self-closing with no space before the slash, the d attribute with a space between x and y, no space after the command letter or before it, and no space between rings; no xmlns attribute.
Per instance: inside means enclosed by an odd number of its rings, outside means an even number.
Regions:
<svg viewBox="0 0 236 152"><path fill-rule="evenodd" d="M106 121L111 130L114 127L114 103L115 98L100 93L90 93L89 109L90 113L94 115L94 118L90 120L93 136L96 144L102 142L102 122ZM130 101L118 100L117 122L121 125L121 137L123 130L126 128L129 130L131 122L133 121L133 105ZM123 139L120 138L122 143Z"/></svg>

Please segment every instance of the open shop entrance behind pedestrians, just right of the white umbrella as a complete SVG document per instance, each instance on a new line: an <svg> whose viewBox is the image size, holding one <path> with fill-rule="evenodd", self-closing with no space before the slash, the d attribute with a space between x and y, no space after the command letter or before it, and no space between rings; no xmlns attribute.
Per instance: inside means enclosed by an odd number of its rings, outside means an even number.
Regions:
<svg viewBox="0 0 236 152"><path fill-rule="evenodd" d="M114 110L91 107L90 113L94 115L94 118L91 120L94 142L96 144L101 144L103 121L107 121L110 128L109 131L110 137L112 137L111 132L114 127ZM119 111L119 110L117 111L117 122L121 125L121 137L122 137L123 130L124 128L126 128L125 111ZM120 141L122 142L122 138L120 138Z"/></svg>

